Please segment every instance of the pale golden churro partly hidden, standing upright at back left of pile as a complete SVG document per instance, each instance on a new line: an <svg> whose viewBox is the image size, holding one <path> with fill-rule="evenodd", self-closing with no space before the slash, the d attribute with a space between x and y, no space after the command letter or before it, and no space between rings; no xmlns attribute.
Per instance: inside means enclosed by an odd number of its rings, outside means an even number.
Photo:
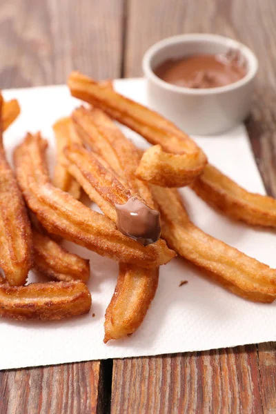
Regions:
<svg viewBox="0 0 276 414"><path fill-rule="evenodd" d="M75 199L79 199L79 197L81 197L81 187L68 172L66 157L63 155L63 150L73 143L81 144L81 139L75 132L75 128L70 118L59 119L52 128L55 132L57 145L57 164L55 166L52 183L57 188L72 195Z"/></svg>

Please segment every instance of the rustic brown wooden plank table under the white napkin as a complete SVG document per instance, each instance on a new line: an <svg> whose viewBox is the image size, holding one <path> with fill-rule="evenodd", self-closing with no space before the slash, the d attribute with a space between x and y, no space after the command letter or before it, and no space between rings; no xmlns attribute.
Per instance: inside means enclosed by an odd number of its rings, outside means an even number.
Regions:
<svg viewBox="0 0 276 414"><path fill-rule="evenodd" d="M260 61L248 132L276 196L275 21L275 0L1 0L0 86L65 83L73 69L140 76L146 49L172 34L239 39ZM0 373L0 413L276 413L275 381L273 343L19 369Z"/></svg>

